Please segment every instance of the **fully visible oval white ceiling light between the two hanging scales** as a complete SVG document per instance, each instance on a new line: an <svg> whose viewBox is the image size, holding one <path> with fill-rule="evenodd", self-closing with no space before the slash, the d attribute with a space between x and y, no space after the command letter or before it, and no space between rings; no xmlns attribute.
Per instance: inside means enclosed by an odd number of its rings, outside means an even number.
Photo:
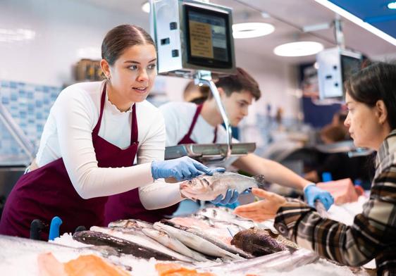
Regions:
<svg viewBox="0 0 396 276"><path fill-rule="evenodd" d="M309 56L323 50L319 42L291 42L277 46L273 53L277 56Z"/></svg>

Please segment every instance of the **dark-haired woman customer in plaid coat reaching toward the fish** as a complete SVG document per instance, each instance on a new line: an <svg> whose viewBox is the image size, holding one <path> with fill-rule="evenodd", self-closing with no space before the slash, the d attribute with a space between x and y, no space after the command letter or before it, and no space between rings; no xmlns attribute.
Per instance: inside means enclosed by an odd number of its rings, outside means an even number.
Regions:
<svg viewBox="0 0 396 276"><path fill-rule="evenodd" d="M302 202L260 189L253 193L263 201L235 213L257 221L275 218L281 234L325 258L352 266L376 258L378 275L396 275L396 64L374 63L345 88L345 125L354 144L377 151L370 199L353 225L321 218Z"/></svg>

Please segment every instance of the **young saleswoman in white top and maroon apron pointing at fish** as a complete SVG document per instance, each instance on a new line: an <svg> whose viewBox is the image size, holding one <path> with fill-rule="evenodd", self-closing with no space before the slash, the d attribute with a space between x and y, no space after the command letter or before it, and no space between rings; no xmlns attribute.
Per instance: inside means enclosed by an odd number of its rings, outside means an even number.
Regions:
<svg viewBox="0 0 396 276"><path fill-rule="evenodd" d="M145 101L156 76L156 49L147 32L115 27L101 55L105 81L73 84L56 99L35 161L8 196L0 234L29 237L32 220L48 224L55 215L63 220L61 232L103 225L108 196L139 188L140 198L133 200L161 208L182 196L177 184L159 179L211 174L190 158L163 161L163 117ZM172 196L163 197L166 186Z"/></svg>

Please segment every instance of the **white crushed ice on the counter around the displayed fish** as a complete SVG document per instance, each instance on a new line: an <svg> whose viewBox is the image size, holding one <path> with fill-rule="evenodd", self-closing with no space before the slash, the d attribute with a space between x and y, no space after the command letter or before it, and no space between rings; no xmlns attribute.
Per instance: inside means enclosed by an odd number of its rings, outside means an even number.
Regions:
<svg viewBox="0 0 396 276"><path fill-rule="evenodd" d="M332 206L329 210L329 218L339 220L348 225L352 224L354 215L361 212L361 208L366 199L364 197L359 198L359 201L354 203L347 203L343 206ZM8 244L7 244L8 242ZM78 251L79 248L87 247L87 244L82 244L73 239L70 234L63 234L61 237L56 238L51 245L56 246L57 244L70 246L75 248L67 249L65 247L61 248L51 248L49 245L48 249L46 246L38 246L37 249L23 250L23 246L18 246L15 242L4 241L0 239L0 246L3 249L0 250L0 271L2 275L39 275L37 268L37 255L39 253L44 253L51 251L54 256L61 262L67 262L74 258L77 258L81 252ZM6 250L4 250L6 249ZM116 263L123 263L123 265L128 265L132 268L132 275L158 275L155 270L156 260L151 258L150 260L138 259L133 256L123 255L120 257L110 256L108 257L111 261ZM210 263L212 264L212 263ZM207 263L209 265L209 263ZM199 263L199 267L203 268L206 263ZM372 267L372 265L371 265ZM213 270L214 273L222 275L221 270ZM228 273L229 274L229 273ZM335 265L324 259L319 259L315 263L309 265L302 265L295 270L288 272L276 272L276 271L266 271L266 276L352 276L352 275L369 275L365 270L359 270L352 272L349 268L345 266Z"/></svg>

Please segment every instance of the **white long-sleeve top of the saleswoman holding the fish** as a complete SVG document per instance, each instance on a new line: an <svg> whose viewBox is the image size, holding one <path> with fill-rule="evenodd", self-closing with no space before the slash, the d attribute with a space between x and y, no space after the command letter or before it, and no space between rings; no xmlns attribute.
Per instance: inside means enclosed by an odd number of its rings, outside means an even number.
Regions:
<svg viewBox="0 0 396 276"><path fill-rule="evenodd" d="M63 158L73 187L84 199L139 187L140 201L149 209L163 208L182 200L178 184L154 181L151 176L151 161L163 160L166 131L161 112L148 101L136 103L137 165L98 167L92 130L99 120L103 86L104 82L83 82L63 89L44 125L36 156L38 167ZM127 112L118 111L106 94L99 136L126 149L130 146L131 119L132 108Z"/></svg>

